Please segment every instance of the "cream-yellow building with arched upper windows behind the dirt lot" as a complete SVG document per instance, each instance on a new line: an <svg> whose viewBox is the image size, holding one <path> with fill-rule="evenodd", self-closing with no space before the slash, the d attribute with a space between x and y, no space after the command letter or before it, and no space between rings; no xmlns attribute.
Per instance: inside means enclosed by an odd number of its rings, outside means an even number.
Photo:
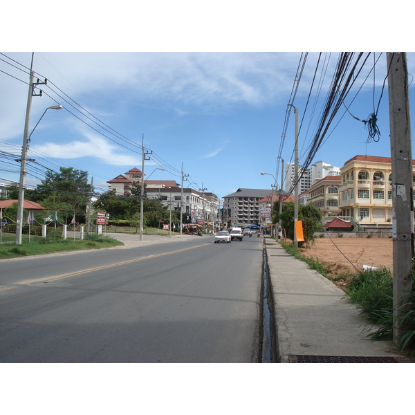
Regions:
<svg viewBox="0 0 415 415"><path fill-rule="evenodd" d="M349 216L360 225L391 225L390 157L354 156L340 168L340 177L342 216Z"/></svg>

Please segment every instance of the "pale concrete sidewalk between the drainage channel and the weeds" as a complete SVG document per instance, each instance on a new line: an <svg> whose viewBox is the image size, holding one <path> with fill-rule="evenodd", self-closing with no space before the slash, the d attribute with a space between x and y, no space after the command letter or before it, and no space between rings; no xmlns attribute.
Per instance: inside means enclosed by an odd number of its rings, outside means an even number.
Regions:
<svg viewBox="0 0 415 415"><path fill-rule="evenodd" d="M277 360L288 362L407 362L391 342L372 342L367 320L329 279L265 235L273 294ZM374 358L374 357L378 358ZM360 357L360 358L359 358Z"/></svg>

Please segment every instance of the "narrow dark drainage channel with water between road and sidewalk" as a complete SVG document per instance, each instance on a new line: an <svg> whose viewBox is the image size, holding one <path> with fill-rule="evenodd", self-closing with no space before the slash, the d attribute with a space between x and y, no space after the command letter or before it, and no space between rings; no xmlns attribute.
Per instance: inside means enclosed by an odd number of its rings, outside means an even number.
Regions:
<svg viewBox="0 0 415 415"><path fill-rule="evenodd" d="M273 315L273 297L270 288L270 275L266 246L262 251L261 308L262 308L262 347L261 363L275 363L277 359L277 336L275 316Z"/></svg>

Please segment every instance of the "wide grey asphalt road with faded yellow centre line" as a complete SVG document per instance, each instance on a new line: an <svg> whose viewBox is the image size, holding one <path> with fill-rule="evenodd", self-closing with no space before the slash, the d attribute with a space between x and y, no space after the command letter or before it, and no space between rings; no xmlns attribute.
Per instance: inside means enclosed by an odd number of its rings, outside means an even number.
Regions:
<svg viewBox="0 0 415 415"><path fill-rule="evenodd" d="M0 362L257 362L261 239L1 260Z"/></svg>

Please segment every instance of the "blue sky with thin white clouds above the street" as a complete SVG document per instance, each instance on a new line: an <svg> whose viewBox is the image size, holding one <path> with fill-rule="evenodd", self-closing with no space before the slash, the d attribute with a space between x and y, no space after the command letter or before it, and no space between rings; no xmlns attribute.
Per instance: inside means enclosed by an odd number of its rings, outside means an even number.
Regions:
<svg viewBox="0 0 415 415"><path fill-rule="evenodd" d="M228 8L226 11L229 11ZM210 15L211 12L207 13ZM243 17L248 19L248 15L246 12ZM262 18L266 21L264 28L277 30L270 26L269 17L262 15ZM264 33L261 23L251 23L257 32ZM102 191L107 189L106 182L118 174L124 174L131 167L141 169L140 146L144 134L145 148L154 153L145 162L147 177L157 167L165 168L164 172L156 170L151 179L180 183L183 163L183 172L189 174L189 182L198 183L193 187L204 187L221 197L238 187L270 188L273 178L261 176L261 172L277 176L279 183L279 150L282 149L281 156L286 163L294 161L294 114L291 113L286 131L284 120L301 51L335 49L331 49L333 44L321 40L313 44L313 39L318 38L322 30L315 26L309 32L308 42L303 40L290 44L284 40L277 44L269 36L248 37L245 34L244 37L243 27L236 25L237 31L232 33L239 35L237 42L228 34L219 42L217 38L214 42L212 39L199 42L199 48L190 42L192 36L187 34L184 41L183 32L169 32L169 27L176 27L170 23L167 32L176 38L169 42L172 39L168 37L156 40L152 37L153 43L152 46L147 45L148 49L140 50L142 42L134 44L136 48L133 48L131 41L125 41L127 43L122 43L122 50L109 52L120 49L120 44L118 48L114 47L109 42L109 35L105 38L101 30L100 37L105 39L95 44L91 36L82 37L82 40L74 38L71 42L68 35L64 35L66 43L61 52L35 52L33 70L41 80L42 77L48 78L48 86L39 86L44 95L33 98L30 131L46 108L62 104L64 110L46 112L31 137L29 157L54 170L59 166L86 170L90 179L93 177L97 190ZM331 25L333 30L334 22ZM145 27L151 26L147 24ZM208 26L202 26L201 30L203 27ZM287 26L278 29L287 30ZM219 26L219 32L223 33L223 30L224 26ZM138 39L139 33L138 30ZM196 31L194 33L197 34ZM42 35L44 33L40 31L35 39L42 38ZM122 39L124 42L129 38ZM0 55L0 149L16 155L21 151L19 147L23 138L28 94L26 68L30 66L31 59L30 52L19 50L28 50L28 47L31 50L59 50L55 44L42 42L35 48L33 39L26 40L10 44L4 55ZM175 40L183 42L183 46L177 47ZM274 45L273 48L270 44ZM336 50L360 50L357 46L367 47L367 37ZM390 45L385 42L385 46ZM74 52L85 49L97 52ZM380 50L383 50L383 45ZM317 98L317 89L313 90L304 116L317 57L317 52L308 53L293 100L302 123L299 133L300 163L306 159L308 145L315 135L338 53L322 55L328 64L324 80L321 78L320 95ZM408 53L407 57L409 73L414 73L415 54ZM363 82L374 66L374 59L378 59L376 71ZM385 53L380 55L377 52L369 57L313 162L324 160L341 167L356 154L390 156L387 84L380 99L386 73ZM319 69L315 84L320 82L321 74ZM413 85L409 88L410 98L413 97L413 88ZM367 143L365 124L354 119L345 106L356 118L367 120L379 101L380 139ZM31 169L32 174L27 176L26 183L39 183L42 169L39 167L37 172ZM10 160L4 163L3 160L0 163L0 179L17 181L18 170L18 163Z"/></svg>

